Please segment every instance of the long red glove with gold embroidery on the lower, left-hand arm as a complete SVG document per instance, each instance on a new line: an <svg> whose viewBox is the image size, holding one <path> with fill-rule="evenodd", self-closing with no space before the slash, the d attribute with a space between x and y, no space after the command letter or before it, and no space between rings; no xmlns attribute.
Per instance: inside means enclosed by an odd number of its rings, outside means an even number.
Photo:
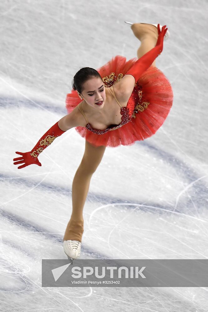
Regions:
<svg viewBox="0 0 208 312"><path fill-rule="evenodd" d="M39 154L48 147L58 136L63 134L65 131L61 130L58 126L58 121L54 124L37 142L36 146L30 152L21 153L16 152L16 154L22 155L22 157L14 158L13 161L16 161L14 165L19 163L25 163L22 166L17 167L18 169L24 168L32 163L35 163L38 166L42 166L38 160Z"/></svg>

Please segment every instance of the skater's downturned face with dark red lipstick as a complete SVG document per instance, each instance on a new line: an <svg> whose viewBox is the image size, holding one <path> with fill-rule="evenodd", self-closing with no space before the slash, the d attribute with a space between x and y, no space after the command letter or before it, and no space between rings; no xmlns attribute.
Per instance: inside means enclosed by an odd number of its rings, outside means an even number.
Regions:
<svg viewBox="0 0 208 312"><path fill-rule="evenodd" d="M93 108L100 110L104 107L106 94L103 80L99 77L93 77L83 84L83 91L81 93L85 102ZM97 105L98 102L103 102L101 105Z"/></svg>

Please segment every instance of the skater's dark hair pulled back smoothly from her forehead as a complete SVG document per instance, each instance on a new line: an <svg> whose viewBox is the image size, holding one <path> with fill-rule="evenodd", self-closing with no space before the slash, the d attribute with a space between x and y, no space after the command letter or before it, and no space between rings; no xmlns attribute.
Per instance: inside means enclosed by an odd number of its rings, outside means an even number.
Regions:
<svg viewBox="0 0 208 312"><path fill-rule="evenodd" d="M72 88L73 90L77 90L80 94L83 91L83 84L85 81L94 78L99 77L101 80L101 76L98 71L96 71L94 68L91 67L83 67L81 68L74 76L74 79L72 80Z"/></svg>

